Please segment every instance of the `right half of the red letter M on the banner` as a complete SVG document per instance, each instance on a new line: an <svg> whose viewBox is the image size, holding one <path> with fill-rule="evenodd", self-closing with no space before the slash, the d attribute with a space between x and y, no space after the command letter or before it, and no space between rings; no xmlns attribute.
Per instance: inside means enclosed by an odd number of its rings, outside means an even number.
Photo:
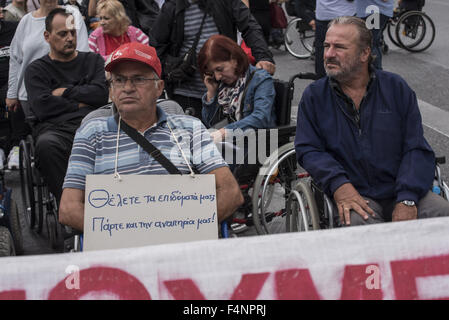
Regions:
<svg viewBox="0 0 449 320"><path fill-rule="evenodd" d="M371 267L375 269L373 270ZM374 273L371 274L370 270L373 270ZM379 270L377 264L346 266L340 299L382 300L380 273L376 273L375 270Z"/></svg>

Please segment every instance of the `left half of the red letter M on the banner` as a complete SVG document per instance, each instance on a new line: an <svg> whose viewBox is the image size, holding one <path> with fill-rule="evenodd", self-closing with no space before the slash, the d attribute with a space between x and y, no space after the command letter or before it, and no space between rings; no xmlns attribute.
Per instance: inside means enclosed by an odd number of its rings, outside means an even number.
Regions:
<svg viewBox="0 0 449 320"><path fill-rule="evenodd" d="M275 273L275 290L279 300L321 299L307 269L289 269Z"/></svg>

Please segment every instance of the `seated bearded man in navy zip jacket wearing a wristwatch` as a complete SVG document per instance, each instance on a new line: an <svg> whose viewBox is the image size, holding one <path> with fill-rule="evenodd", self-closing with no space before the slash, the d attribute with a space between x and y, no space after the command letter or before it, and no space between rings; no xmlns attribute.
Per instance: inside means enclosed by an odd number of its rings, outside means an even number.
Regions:
<svg viewBox="0 0 449 320"><path fill-rule="evenodd" d="M299 104L297 160L333 196L344 225L448 216L449 203L430 191L435 156L416 95L400 76L370 66L371 42L359 18L330 23L327 77Z"/></svg>

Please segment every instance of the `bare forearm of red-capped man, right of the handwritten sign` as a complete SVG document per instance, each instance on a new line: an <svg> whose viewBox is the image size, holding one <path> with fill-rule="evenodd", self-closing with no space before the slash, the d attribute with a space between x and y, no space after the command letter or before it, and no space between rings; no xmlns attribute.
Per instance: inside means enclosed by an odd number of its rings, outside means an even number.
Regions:
<svg viewBox="0 0 449 320"><path fill-rule="evenodd" d="M239 185L228 167L212 170L215 175L217 217L221 222L231 216L244 202Z"/></svg>

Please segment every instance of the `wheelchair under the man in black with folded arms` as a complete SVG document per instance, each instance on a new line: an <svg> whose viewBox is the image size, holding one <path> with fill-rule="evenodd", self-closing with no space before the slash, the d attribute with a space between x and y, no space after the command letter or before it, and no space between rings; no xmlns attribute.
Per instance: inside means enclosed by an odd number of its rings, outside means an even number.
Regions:
<svg viewBox="0 0 449 320"><path fill-rule="evenodd" d="M33 116L26 121L32 123ZM28 227L37 234L44 229L50 246L57 249L61 246L62 230L58 222L58 204L55 196L48 190L44 178L36 167L34 139L28 135L19 144L20 189L22 193L25 221Z"/></svg>

